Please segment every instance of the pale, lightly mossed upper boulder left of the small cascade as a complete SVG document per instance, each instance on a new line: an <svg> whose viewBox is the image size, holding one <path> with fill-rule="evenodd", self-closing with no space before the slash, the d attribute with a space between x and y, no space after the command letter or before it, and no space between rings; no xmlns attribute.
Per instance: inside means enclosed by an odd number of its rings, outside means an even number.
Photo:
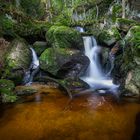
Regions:
<svg viewBox="0 0 140 140"><path fill-rule="evenodd" d="M22 39L15 39L10 45L6 58L7 66L11 69L28 69L32 58L28 44Z"/></svg>

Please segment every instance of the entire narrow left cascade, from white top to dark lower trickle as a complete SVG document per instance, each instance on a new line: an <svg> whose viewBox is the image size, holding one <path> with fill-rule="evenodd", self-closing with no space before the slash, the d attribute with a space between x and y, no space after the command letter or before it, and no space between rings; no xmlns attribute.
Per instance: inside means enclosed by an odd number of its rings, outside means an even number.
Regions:
<svg viewBox="0 0 140 140"><path fill-rule="evenodd" d="M33 48L30 48L30 50L32 51L32 63L29 70L25 73L23 79L23 83L26 85L30 85L33 82L33 78L39 70L39 59L37 57L37 54Z"/></svg>

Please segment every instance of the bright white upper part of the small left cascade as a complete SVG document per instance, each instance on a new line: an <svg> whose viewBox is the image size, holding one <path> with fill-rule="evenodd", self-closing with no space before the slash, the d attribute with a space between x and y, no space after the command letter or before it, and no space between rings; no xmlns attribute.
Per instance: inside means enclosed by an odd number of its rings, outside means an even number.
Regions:
<svg viewBox="0 0 140 140"><path fill-rule="evenodd" d="M34 49L33 48L30 49L32 51L32 69L36 69L39 66L39 60Z"/></svg>

